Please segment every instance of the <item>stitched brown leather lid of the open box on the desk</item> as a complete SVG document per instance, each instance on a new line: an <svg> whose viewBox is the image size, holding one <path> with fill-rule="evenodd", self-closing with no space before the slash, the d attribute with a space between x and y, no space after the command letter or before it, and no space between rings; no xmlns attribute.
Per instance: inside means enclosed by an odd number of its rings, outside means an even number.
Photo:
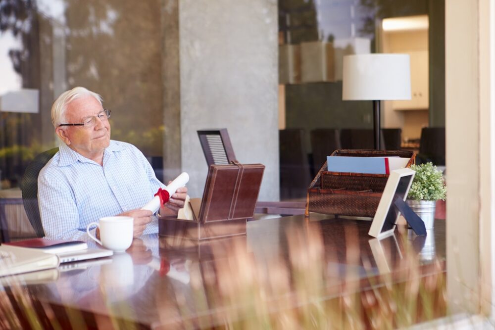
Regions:
<svg viewBox="0 0 495 330"><path fill-rule="evenodd" d="M262 164L210 166L199 220L212 222L252 217L264 168Z"/></svg>

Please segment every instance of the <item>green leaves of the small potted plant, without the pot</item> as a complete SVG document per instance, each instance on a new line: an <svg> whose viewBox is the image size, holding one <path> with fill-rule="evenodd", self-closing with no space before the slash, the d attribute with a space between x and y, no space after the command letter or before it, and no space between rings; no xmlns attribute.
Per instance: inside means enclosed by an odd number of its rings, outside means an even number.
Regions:
<svg viewBox="0 0 495 330"><path fill-rule="evenodd" d="M411 170L416 171L416 175L407 198L430 201L445 200L446 187L442 171L438 170L431 162L411 165Z"/></svg>

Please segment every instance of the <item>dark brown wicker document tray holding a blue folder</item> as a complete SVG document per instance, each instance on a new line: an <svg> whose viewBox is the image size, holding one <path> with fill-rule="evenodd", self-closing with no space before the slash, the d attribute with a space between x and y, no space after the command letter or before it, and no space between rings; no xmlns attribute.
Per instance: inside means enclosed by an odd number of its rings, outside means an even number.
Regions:
<svg viewBox="0 0 495 330"><path fill-rule="evenodd" d="M332 156L409 158L406 167L414 163L415 154L406 150L339 149ZM346 216L373 217L387 183L387 174L328 172L327 163L311 182L306 201L309 212Z"/></svg>

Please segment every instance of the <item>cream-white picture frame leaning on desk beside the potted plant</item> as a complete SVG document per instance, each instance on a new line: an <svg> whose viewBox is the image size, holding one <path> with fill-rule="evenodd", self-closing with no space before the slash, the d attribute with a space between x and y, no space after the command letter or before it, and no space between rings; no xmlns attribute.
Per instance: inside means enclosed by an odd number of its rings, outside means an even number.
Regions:
<svg viewBox="0 0 495 330"><path fill-rule="evenodd" d="M415 174L416 172L409 168L401 168L390 172L389 180L387 180L368 232L370 236L382 238L394 234L396 223L400 216L400 212L393 205L394 198L397 195L402 200L407 198L407 193L411 188Z"/></svg>

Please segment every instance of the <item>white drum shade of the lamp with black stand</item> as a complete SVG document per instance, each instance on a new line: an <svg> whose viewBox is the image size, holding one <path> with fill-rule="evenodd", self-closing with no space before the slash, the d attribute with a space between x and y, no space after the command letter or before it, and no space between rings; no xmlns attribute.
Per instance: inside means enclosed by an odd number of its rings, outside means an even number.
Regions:
<svg viewBox="0 0 495 330"><path fill-rule="evenodd" d="M411 99L408 54L344 56L343 100Z"/></svg>

